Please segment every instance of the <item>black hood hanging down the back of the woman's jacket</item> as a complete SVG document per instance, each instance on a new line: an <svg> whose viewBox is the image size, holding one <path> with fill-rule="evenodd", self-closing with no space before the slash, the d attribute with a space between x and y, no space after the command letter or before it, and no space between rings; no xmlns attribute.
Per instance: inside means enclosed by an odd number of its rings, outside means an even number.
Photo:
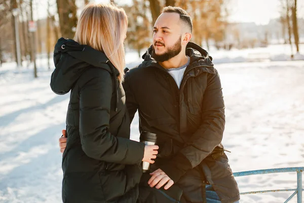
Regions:
<svg viewBox="0 0 304 203"><path fill-rule="evenodd" d="M113 79L119 76L118 70L103 52L71 39L58 40L54 49L54 64L50 85L57 94L68 93L79 77L92 66L105 69Z"/></svg>

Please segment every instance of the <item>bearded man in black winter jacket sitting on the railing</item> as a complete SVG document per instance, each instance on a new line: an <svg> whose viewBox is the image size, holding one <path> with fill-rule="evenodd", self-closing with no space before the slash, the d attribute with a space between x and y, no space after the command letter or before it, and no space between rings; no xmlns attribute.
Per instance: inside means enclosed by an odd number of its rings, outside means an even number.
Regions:
<svg viewBox="0 0 304 203"><path fill-rule="evenodd" d="M128 112L132 120L138 110L140 131L158 136L150 187L177 185L181 202L238 202L221 145L225 116L219 75L208 53L189 42L192 29L184 10L163 9L144 61L126 73Z"/></svg>

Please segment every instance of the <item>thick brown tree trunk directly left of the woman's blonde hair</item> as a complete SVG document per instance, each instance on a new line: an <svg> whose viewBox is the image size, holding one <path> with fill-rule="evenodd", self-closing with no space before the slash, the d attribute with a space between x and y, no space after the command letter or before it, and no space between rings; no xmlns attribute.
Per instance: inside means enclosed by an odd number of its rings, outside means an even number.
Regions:
<svg viewBox="0 0 304 203"><path fill-rule="evenodd" d="M77 6L75 0L56 0L59 15L59 24L62 37L72 39L73 27L77 23Z"/></svg>

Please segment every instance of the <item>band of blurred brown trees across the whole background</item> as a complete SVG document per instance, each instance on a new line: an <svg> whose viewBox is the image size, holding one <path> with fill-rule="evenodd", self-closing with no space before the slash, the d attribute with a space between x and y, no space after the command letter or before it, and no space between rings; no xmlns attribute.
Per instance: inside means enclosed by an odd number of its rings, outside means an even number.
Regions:
<svg viewBox="0 0 304 203"><path fill-rule="evenodd" d="M126 48L138 55L152 42L152 27L165 6L179 6L192 17L192 41L209 50L267 46L277 36L278 43L294 44L299 52L299 36L304 20L298 17L297 0L279 0L280 17L268 25L232 23L232 0L109 0L119 4L129 17ZM81 10L93 0L0 0L0 66L7 60L17 62L17 36L20 39L22 64L36 66L35 57L52 57L58 38L74 37ZM18 9L16 17L13 9ZM15 21L17 18L17 21ZM15 22L19 33L15 30ZM283 42L281 42L283 41ZM52 61L49 59L49 64ZM39 66L40 64L37 64ZM49 65L50 68L50 65Z"/></svg>

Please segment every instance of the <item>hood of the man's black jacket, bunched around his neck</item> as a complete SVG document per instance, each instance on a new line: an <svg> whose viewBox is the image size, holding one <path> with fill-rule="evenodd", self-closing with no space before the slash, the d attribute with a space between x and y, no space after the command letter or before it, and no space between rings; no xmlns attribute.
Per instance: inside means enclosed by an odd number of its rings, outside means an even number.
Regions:
<svg viewBox="0 0 304 203"><path fill-rule="evenodd" d="M153 45L151 45L147 51L142 55L144 63L157 63L157 61L151 56L153 54ZM189 42L186 46L186 55L190 57L190 64L199 62L200 65L213 65L212 57L209 53L200 47L199 45Z"/></svg>

